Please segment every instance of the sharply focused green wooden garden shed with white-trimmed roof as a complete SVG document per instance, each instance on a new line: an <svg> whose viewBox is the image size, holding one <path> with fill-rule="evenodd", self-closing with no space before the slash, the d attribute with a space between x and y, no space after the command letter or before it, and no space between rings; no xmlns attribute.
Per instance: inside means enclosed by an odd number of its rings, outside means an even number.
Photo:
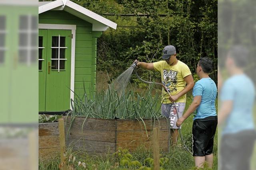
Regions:
<svg viewBox="0 0 256 170"><path fill-rule="evenodd" d="M66 111L83 83L95 93L97 38L117 24L70 0L39 2L38 13L39 111Z"/></svg>

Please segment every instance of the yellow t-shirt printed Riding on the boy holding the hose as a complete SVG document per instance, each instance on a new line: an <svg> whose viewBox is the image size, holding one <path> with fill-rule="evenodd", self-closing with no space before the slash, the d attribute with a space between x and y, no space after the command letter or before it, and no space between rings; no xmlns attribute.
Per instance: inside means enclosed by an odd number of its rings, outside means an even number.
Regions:
<svg viewBox="0 0 256 170"><path fill-rule="evenodd" d="M178 60L178 63L174 66L170 66L166 61L158 61L153 64L154 70L161 72L162 84L166 86L171 95L178 94L178 92L185 88L186 82L184 77L191 74L190 69L185 63ZM172 103L164 88L162 88L162 96L164 96L162 99L164 104ZM186 94L178 98L175 102L186 103Z"/></svg>

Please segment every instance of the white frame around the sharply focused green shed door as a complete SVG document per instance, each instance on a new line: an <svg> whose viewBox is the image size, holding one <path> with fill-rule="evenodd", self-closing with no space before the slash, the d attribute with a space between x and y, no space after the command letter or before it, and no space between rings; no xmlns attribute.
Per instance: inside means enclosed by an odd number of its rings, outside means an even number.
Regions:
<svg viewBox="0 0 256 170"><path fill-rule="evenodd" d="M65 24L46 24L39 23L38 29L66 29L71 30L73 38L71 39L71 73L70 73L70 98L74 100L74 86L75 86L75 46L76 46L76 25ZM70 102L70 109L72 109Z"/></svg>

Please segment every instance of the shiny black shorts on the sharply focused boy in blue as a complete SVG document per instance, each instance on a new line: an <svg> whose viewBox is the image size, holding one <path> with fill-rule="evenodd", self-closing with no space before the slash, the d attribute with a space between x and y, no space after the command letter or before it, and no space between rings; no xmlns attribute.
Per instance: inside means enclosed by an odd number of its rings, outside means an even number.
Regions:
<svg viewBox="0 0 256 170"><path fill-rule="evenodd" d="M218 124L217 116L195 119L192 127L193 156L212 154L213 139Z"/></svg>

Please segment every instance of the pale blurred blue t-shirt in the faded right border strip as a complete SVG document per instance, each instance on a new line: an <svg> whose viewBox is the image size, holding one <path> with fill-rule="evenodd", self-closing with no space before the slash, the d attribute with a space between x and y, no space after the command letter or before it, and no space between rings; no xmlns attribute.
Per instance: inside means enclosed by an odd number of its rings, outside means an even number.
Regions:
<svg viewBox="0 0 256 170"><path fill-rule="evenodd" d="M228 78L223 84L220 97L222 102L232 101L232 110L226 119L222 134L254 129L252 110L255 89L248 76L240 74Z"/></svg>

